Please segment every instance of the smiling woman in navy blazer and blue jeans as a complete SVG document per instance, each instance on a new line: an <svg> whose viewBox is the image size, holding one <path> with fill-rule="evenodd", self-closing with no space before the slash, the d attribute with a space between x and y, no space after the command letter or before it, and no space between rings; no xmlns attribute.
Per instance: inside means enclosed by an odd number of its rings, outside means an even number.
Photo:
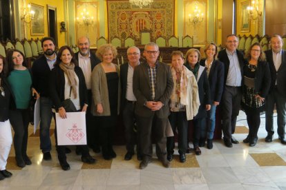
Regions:
<svg viewBox="0 0 286 190"><path fill-rule="evenodd" d="M216 60L216 54L218 54L216 43L208 43L204 48L204 53L206 59L200 60L200 65L207 68L209 87L211 88L211 109L207 112L207 148L212 149L213 132L216 127L216 107L220 105L220 98L222 97L225 66ZM204 138L200 139L200 147L204 147L204 140Z"/></svg>

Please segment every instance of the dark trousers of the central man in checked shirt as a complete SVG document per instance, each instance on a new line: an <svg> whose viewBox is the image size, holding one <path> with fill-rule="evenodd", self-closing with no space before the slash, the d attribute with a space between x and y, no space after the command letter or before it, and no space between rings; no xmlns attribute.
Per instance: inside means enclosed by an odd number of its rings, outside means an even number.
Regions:
<svg viewBox="0 0 286 190"><path fill-rule="evenodd" d="M154 134L156 155L162 159L166 157L166 125L168 118L158 118L155 114L150 117L137 116L137 127L140 134L140 145L144 158L150 159L153 154L151 136Z"/></svg>

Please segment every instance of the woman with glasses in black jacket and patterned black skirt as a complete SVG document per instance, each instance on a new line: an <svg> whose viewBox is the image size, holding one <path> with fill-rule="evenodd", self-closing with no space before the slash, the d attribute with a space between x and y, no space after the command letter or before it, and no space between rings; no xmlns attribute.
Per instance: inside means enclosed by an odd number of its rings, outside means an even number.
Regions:
<svg viewBox="0 0 286 190"><path fill-rule="evenodd" d="M259 43L254 43L245 58L247 64L243 68L242 109L247 115L249 134L243 142L254 147L258 140L260 114L264 112L265 97L268 94L271 78L265 53Z"/></svg>

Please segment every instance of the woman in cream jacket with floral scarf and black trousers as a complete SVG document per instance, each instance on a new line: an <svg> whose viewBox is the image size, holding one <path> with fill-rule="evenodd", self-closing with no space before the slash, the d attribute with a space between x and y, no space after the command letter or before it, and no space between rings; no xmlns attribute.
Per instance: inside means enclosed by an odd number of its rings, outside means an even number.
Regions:
<svg viewBox="0 0 286 190"><path fill-rule="evenodd" d="M195 76L185 67L184 56L180 51L171 54L171 73L173 76L173 92L171 94L169 121L175 134L178 127L178 148L180 162L186 162L188 120L192 120L198 114L200 101L198 97L198 84ZM173 160L174 137L167 138L167 159Z"/></svg>

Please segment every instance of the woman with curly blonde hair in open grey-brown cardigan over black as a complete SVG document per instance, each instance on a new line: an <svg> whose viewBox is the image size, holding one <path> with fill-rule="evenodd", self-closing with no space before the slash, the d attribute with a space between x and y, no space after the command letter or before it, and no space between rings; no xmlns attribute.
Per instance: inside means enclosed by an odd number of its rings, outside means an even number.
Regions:
<svg viewBox="0 0 286 190"><path fill-rule="evenodd" d="M120 112L120 71L112 63L117 50L113 45L105 44L98 48L96 56L102 63L97 64L91 74L91 113L98 121L102 156L105 160L111 160L116 157L113 136Z"/></svg>

